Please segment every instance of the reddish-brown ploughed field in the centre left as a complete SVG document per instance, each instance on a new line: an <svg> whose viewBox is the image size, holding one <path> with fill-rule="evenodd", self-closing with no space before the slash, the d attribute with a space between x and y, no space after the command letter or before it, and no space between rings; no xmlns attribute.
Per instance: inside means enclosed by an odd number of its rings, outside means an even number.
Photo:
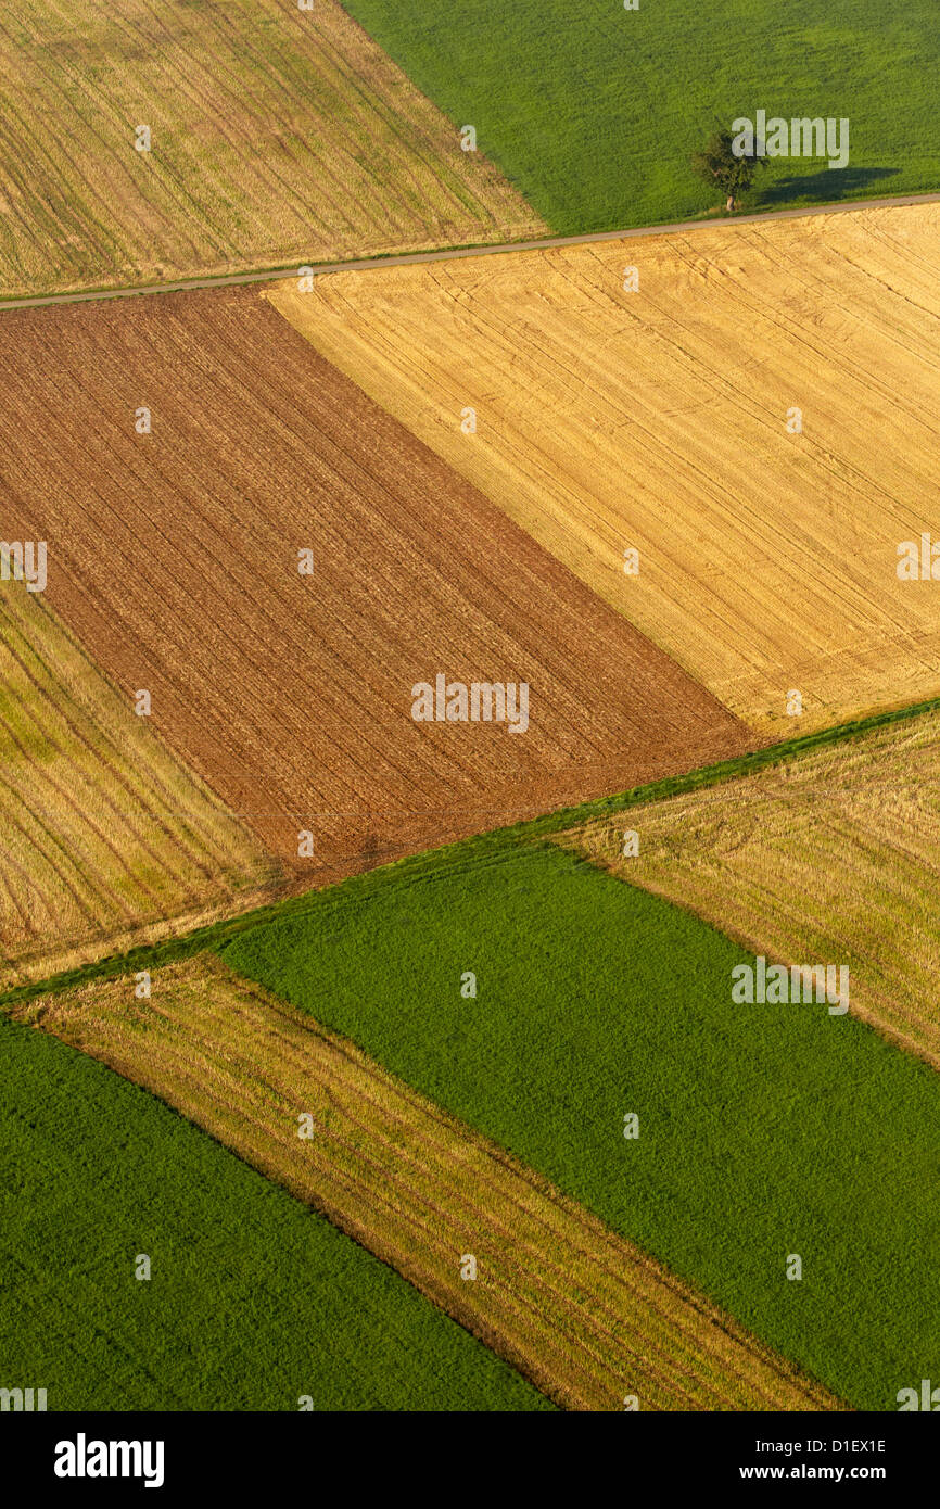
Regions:
<svg viewBox="0 0 940 1509"><path fill-rule="evenodd" d="M8 312L0 340L5 528L303 880L753 742L257 294ZM528 727L521 691L515 732L415 721L439 675L528 685Z"/></svg>

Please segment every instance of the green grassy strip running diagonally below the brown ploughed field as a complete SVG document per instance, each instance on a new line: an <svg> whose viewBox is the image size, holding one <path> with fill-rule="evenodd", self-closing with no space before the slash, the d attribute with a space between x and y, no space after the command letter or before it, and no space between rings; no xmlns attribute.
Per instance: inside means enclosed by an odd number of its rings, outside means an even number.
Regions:
<svg viewBox="0 0 940 1509"><path fill-rule="evenodd" d="M170 964L181 958L192 958L195 954L202 954L210 949L219 951L237 937L237 934L244 933L249 928L260 927L276 916L303 913L311 905L317 905L318 901L326 896L332 896L344 887L353 884L358 887L370 883L374 884L376 878L382 883L382 877L388 877L392 869L400 871L404 880L406 875L412 872L419 874L429 863L441 863L445 857L453 857L460 862L478 854L490 854L490 857L498 859L504 853L511 853L521 844L540 842L554 833L578 827L582 822L613 816L617 812L625 812L629 807L638 807L650 801L667 801L670 797L680 797L690 791L700 791L706 786L718 786L724 782L736 780L741 776L750 776L754 771L766 770L771 765L783 765L789 761L800 759L800 756L809 754L818 748L827 748L834 744L863 738L866 733L872 733L877 729L890 727L893 723L905 723L929 712L940 712L940 697L931 697L926 702L916 702L904 708L893 708L887 712L874 712L851 723L834 724L830 729L816 729L813 733L804 733L798 738L785 739L779 744L765 744L751 750L748 754L718 761L715 765L702 765L697 770L687 771L680 776L664 776L659 780L647 782L644 786L634 786L629 791L614 794L613 797L596 797L591 801L579 803L575 807L558 807L557 810L546 812L539 818L530 818L524 822L510 824L502 828L492 828L486 833L475 833L471 837L457 839L454 844L441 844L436 848L422 850L418 854L407 854L403 859L391 860L386 865L377 865L374 869L364 871L358 875L350 875L333 883L332 886L323 886L318 889L311 887L300 895L285 896L281 901L255 907L253 910L244 911L235 917L211 922L207 927L196 928L181 937L163 939L158 943L140 943L136 948L128 949L125 954L110 954L106 958L81 964L78 969L63 970L62 973L51 975L47 979L30 981L24 985L11 985L8 990L0 991L0 1010L6 1011L9 1007L21 1005L36 996L57 994L62 990L68 990L72 985L78 985L89 979L109 978L142 969L160 969L163 964Z"/></svg>

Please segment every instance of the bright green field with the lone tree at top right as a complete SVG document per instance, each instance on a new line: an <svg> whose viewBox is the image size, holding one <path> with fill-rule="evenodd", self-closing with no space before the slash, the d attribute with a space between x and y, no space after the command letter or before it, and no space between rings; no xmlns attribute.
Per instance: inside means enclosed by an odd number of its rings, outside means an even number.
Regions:
<svg viewBox="0 0 940 1509"><path fill-rule="evenodd" d="M848 118L849 161L776 158L754 208L940 189L935 0L344 5L561 234L721 204L690 157L759 109Z"/></svg>

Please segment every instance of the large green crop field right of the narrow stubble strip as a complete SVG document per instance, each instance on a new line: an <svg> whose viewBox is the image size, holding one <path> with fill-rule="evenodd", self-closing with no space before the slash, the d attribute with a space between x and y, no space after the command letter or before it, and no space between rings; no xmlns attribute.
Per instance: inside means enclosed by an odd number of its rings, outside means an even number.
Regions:
<svg viewBox="0 0 940 1509"><path fill-rule="evenodd" d="M505 841L358 877L223 957L849 1403L893 1409L935 1372L940 1080L825 1005L733 1005L753 958L706 924Z"/></svg>

